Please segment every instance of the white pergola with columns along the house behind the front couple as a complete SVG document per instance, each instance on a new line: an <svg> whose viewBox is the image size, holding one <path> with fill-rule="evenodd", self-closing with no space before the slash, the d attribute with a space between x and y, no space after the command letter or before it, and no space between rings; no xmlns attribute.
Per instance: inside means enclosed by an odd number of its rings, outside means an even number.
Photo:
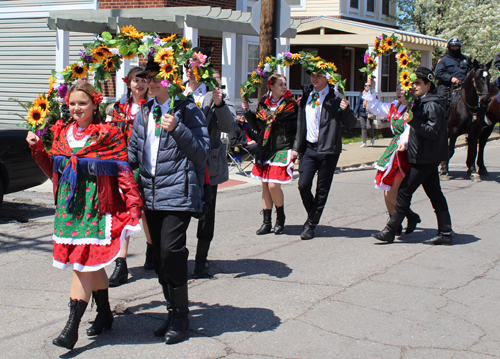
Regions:
<svg viewBox="0 0 500 359"><path fill-rule="evenodd" d="M133 25L139 31L175 33L192 41L198 46L198 36L222 38L222 83L230 98L239 97L237 80L236 36L258 36L251 25L251 13L222 9L219 7L162 7L136 9L104 9L51 11L47 25L57 31L56 71L69 65L69 33L83 32L100 34L108 31L119 32L120 27ZM290 27L277 39L277 52L287 51L290 38L297 34L300 22L290 20ZM130 61L124 60L116 76L116 97L126 92L122 78L130 69ZM284 72L288 68L283 69Z"/></svg>

